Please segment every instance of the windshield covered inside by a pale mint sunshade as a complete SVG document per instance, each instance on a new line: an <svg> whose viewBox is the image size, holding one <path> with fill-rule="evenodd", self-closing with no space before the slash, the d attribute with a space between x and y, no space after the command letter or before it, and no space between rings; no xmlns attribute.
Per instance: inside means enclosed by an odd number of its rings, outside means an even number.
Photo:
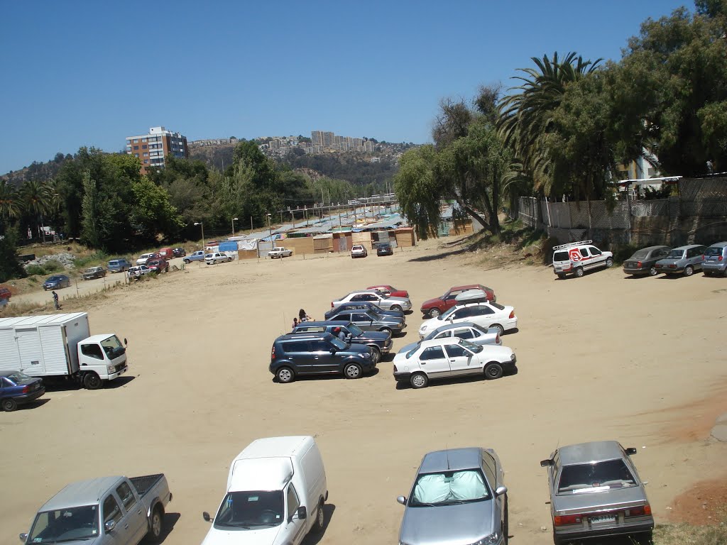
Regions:
<svg viewBox="0 0 727 545"><path fill-rule="evenodd" d="M409 506L442 506L483 501L489 490L479 469L426 473L417 477Z"/></svg>

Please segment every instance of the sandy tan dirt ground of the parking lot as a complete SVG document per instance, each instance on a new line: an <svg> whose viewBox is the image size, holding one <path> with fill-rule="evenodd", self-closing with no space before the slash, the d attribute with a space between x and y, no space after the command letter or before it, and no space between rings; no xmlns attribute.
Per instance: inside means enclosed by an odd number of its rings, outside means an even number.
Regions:
<svg viewBox="0 0 727 545"><path fill-rule="evenodd" d="M89 302L92 333L129 339L130 374L0 414L0 544L17 544L66 483L151 472L165 472L174 493L164 543L199 544L209 528L201 512L217 509L230 460L273 435L314 435L321 448L330 490L321 544L395 543L395 497L409 492L422 456L441 448L497 450L518 545L552 542L539 460L557 445L637 447L662 522L691 485L724 477L727 445L708 437L727 411L727 279L630 279L613 268L556 280L547 267L442 259L437 246L193 265ZM389 358L356 381L273 382L271 344L300 307L322 318L334 298L374 283L409 290L417 310L449 286L491 286L519 318L503 341L518 374L398 389ZM395 348L417 339L419 312L407 323Z"/></svg>

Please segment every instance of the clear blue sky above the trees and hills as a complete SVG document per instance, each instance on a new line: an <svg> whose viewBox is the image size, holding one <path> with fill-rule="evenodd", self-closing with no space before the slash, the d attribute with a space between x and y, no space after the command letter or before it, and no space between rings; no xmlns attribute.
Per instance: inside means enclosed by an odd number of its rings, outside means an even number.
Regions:
<svg viewBox="0 0 727 545"><path fill-rule="evenodd" d="M430 140L530 57L618 60L691 1L4 1L0 173L163 125L188 140L333 131Z"/></svg>

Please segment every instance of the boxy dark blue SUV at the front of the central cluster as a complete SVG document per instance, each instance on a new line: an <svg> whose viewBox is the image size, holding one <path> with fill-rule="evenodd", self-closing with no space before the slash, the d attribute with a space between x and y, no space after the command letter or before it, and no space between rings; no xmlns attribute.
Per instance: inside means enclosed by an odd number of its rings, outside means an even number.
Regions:
<svg viewBox="0 0 727 545"><path fill-rule="evenodd" d="M343 374L360 379L376 368L371 348L348 344L329 333L281 335L270 352L270 373L278 382L293 382L298 375Z"/></svg>

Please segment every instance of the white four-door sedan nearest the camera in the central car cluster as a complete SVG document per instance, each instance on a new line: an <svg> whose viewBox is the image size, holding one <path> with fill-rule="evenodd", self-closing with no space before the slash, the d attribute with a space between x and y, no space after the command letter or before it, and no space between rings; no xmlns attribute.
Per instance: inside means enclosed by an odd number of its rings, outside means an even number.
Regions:
<svg viewBox="0 0 727 545"><path fill-rule="evenodd" d="M515 371L515 352L495 344L473 344L448 337L422 341L409 352L394 356L394 379L424 388L431 379L451 376L482 375L499 379L505 371Z"/></svg>

